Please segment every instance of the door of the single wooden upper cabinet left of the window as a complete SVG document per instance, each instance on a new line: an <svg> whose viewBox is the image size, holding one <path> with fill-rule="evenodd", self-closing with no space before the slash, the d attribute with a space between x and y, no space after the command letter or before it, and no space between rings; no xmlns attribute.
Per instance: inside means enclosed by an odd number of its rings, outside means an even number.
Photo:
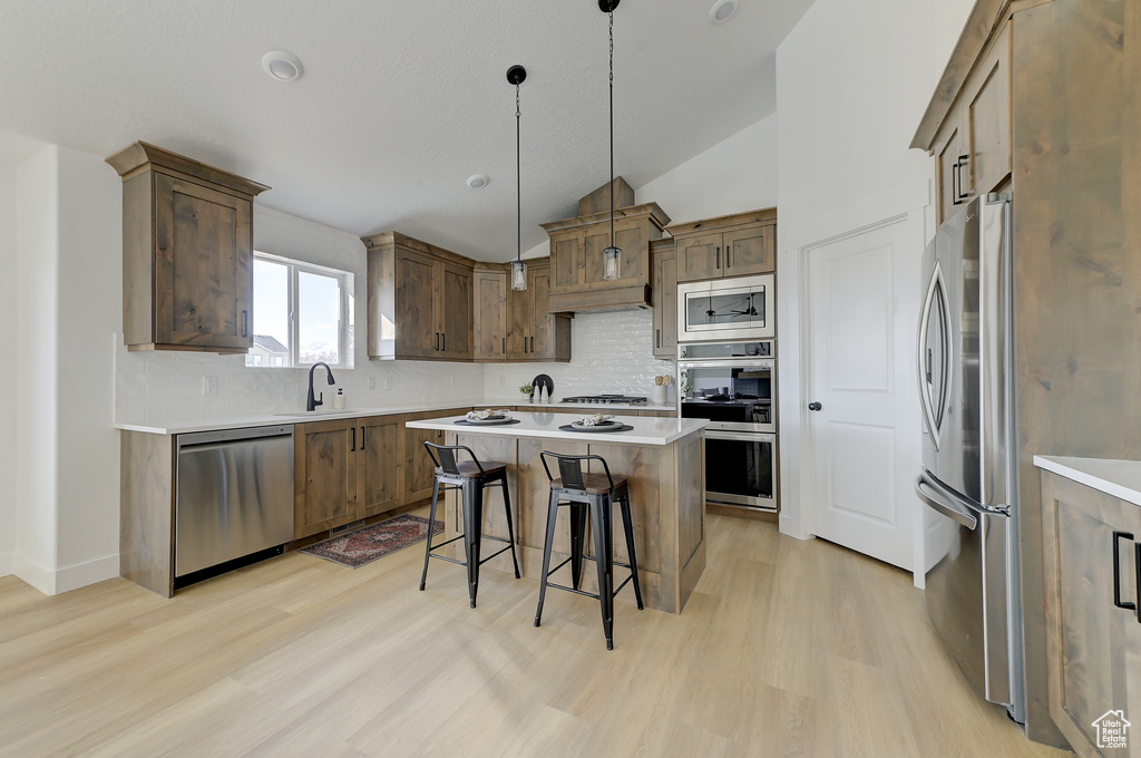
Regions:
<svg viewBox="0 0 1141 758"><path fill-rule="evenodd" d="M253 204L154 175L154 341L249 348Z"/></svg>

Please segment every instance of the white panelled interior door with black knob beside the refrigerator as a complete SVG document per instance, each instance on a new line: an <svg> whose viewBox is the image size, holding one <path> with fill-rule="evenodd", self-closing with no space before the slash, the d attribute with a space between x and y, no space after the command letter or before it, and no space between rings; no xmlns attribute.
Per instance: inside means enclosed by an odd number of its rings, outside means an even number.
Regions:
<svg viewBox="0 0 1141 758"><path fill-rule="evenodd" d="M923 251L908 249L908 239L901 219L810 250L804 413L816 467L812 531L911 571Z"/></svg>

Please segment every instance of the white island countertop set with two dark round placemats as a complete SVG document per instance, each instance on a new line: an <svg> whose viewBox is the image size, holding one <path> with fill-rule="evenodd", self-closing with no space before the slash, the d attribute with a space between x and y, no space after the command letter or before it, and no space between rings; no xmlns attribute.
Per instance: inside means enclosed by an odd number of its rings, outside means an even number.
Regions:
<svg viewBox="0 0 1141 758"><path fill-rule="evenodd" d="M631 445L667 445L682 437L697 434L704 428L705 419L652 418L638 416L613 414L615 421L626 424L632 429L628 432L565 432L560 426L570 424L570 413L511 413L519 424L468 426L456 424L462 416L443 419L426 419L407 421L405 426L413 429L439 429L461 434L489 434L508 437L540 437L542 440L574 440L577 442L616 443ZM607 416L610 416L609 413Z"/></svg>

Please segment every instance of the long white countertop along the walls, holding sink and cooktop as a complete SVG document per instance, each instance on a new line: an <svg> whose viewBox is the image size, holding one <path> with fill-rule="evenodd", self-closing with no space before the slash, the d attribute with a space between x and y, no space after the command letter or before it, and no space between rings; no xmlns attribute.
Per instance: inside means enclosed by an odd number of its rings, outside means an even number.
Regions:
<svg viewBox="0 0 1141 758"><path fill-rule="evenodd" d="M246 429L250 427L273 426L275 424L305 424L306 421L332 421L337 419L354 419L366 416L395 416L398 413L423 413L426 411L445 411L453 408L515 408L529 403L519 403L518 400L501 400L489 403L453 402L453 403L429 403L403 405L381 405L370 408L346 408L343 410L332 410L321 408L311 413L297 411L296 413L260 413L244 417L212 419L212 420L185 420L163 421L159 424L115 424L116 429L123 432L143 432L146 434L191 434L195 432L217 432L219 429ZM674 405L581 405L578 403L544 403L542 408L558 408L568 412L583 411L588 409L606 409L607 413L620 413L622 411L670 411L677 412Z"/></svg>

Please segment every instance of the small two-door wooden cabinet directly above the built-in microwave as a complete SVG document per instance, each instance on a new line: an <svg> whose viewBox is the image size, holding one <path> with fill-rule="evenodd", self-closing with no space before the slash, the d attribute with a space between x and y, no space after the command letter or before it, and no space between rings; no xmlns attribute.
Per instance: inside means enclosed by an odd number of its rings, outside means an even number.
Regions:
<svg viewBox="0 0 1141 758"><path fill-rule="evenodd" d="M667 227L678 282L776 271L777 209L720 216Z"/></svg>

